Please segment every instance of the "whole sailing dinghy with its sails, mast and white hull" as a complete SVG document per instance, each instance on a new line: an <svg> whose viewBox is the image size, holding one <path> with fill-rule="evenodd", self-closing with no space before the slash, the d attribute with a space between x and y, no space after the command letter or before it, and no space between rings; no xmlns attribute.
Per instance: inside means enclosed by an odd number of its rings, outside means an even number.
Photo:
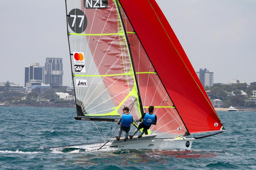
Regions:
<svg viewBox="0 0 256 170"><path fill-rule="evenodd" d="M150 105L158 119L140 139L65 148L190 150L206 137L194 133L225 131L155 0L66 0L66 11L75 119L116 123L124 105L135 127Z"/></svg>

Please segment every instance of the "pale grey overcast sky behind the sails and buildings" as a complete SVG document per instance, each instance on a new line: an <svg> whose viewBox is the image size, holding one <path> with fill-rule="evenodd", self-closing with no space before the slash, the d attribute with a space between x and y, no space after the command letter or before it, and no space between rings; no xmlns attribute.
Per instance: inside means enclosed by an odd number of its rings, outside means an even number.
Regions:
<svg viewBox="0 0 256 170"><path fill-rule="evenodd" d="M256 81L256 0L156 0L195 71L214 83ZM64 0L0 0L0 82L24 86L25 66L63 58L63 85L71 69Z"/></svg>

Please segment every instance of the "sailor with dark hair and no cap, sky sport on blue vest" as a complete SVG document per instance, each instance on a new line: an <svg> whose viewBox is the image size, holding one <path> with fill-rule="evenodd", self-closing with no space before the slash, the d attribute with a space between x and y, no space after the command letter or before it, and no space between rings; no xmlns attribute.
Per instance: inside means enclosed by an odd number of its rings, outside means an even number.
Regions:
<svg viewBox="0 0 256 170"><path fill-rule="evenodd" d="M132 137L141 129L143 128L142 132L140 133L140 135L138 136L138 138L141 138L142 135L146 132L146 130L148 130L150 128L150 126L156 125L156 115L153 114L154 112L154 106L149 106L148 107L148 113L143 113L141 118L139 119L139 121L142 123L139 124L138 128L134 131L134 133L132 135L129 135L130 139L132 139Z"/></svg>

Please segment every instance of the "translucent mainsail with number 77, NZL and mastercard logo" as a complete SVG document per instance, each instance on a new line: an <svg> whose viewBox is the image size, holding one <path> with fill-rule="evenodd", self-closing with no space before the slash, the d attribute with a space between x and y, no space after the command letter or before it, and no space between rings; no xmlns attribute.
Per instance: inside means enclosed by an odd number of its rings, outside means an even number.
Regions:
<svg viewBox="0 0 256 170"><path fill-rule="evenodd" d="M86 3L66 0L77 115L117 116L132 104L137 119L141 106L136 73L116 1L105 1L105 7Z"/></svg>

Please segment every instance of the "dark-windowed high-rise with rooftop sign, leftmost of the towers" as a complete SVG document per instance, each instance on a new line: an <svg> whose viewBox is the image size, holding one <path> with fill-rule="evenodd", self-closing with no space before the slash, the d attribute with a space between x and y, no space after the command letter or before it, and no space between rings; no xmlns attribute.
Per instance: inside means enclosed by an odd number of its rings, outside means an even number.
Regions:
<svg viewBox="0 0 256 170"><path fill-rule="evenodd" d="M39 66L39 63L31 63L31 66L25 67L25 87L33 85L41 85L44 83L44 66Z"/></svg>

